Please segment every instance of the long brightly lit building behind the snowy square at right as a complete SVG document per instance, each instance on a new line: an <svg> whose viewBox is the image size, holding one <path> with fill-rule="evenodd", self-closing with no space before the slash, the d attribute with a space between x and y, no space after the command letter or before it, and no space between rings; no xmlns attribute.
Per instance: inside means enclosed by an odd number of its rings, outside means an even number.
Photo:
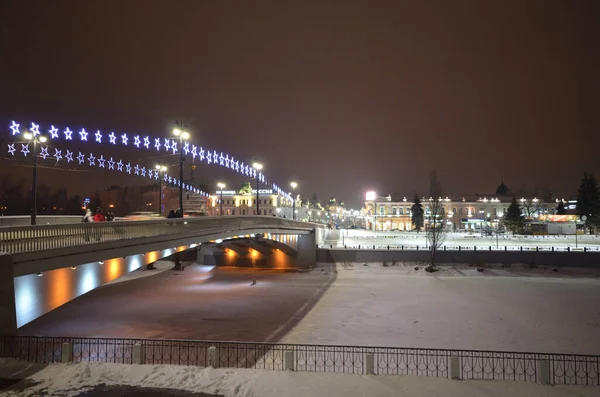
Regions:
<svg viewBox="0 0 600 397"><path fill-rule="evenodd" d="M424 211L425 228L429 223L430 203L433 197L420 197ZM513 195L504 183L500 184L495 194L464 195L437 197L443 202L445 224L449 231L483 230L498 228L508 210ZM362 209L366 228L369 230L412 230L411 207L414 196L379 197L375 192L368 192L365 207ZM525 220L530 222L543 221L545 216L554 215L559 200L542 199L537 197L517 198ZM548 230L555 230L551 227ZM564 228L567 230L568 228ZM558 230L558 229L557 229ZM560 229L563 230L563 229Z"/></svg>

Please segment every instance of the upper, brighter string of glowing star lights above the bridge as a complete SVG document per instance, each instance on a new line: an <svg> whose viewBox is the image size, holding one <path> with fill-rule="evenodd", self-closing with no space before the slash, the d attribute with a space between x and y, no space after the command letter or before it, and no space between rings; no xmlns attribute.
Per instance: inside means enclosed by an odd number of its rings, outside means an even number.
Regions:
<svg viewBox="0 0 600 397"><path fill-rule="evenodd" d="M11 125L9 126L9 128L11 129L11 133L12 136L18 135L20 134L20 124L18 124L16 121L12 121ZM31 128L29 129L30 132L35 136L35 135L39 135L40 131L39 131L39 124L35 124L35 123L31 123ZM74 141L74 134L73 131L71 131L69 129L69 127L65 127L64 131L62 133L60 133L59 129L56 128L54 125L51 125L50 128L48 129L48 135L50 137L50 139L53 140L59 140L59 139L64 139L66 141ZM180 150L180 148L178 146L178 142L175 139L170 139L170 138L162 138L163 141L161 143L161 138L151 138L149 136L140 136L140 135L130 135L128 136L126 133L123 133L121 135L116 135L114 132L111 132L110 134L106 134L106 133L102 133L100 132L100 130L97 130L95 134L93 134L93 138L92 139L90 137L90 140L88 141L88 135L89 133L85 130L85 128L82 128L81 131L79 131L78 133L75 134L75 137L79 136L79 141L80 142L92 142L92 143L109 143L111 145L117 145L117 141L119 141L119 145L120 146L125 146L125 147L135 147L137 149L142 149L145 148L146 150L152 150L151 147L153 147L157 152L161 151L161 147L164 148L165 151L167 152L172 152L172 154L176 154L178 152L178 150ZM105 138L108 138L108 141ZM132 138L131 140L133 140L132 143L130 143L130 137ZM151 143L154 142L154 145L151 145ZM11 148L9 145L9 152L11 153L11 155L14 156L14 151L16 151L16 149L13 147L12 148L13 151L11 152ZM29 149L27 149L28 151ZM252 178L258 178L259 181L265 183L266 178L265 175L262 172L259 172L257 174L256 169L254 169L252 166L248 165L248 164L244 164L243 162L240 162L239 160L236 160L233 156L229 156L227 153L223 153L220 152L218 153L216 150L209 150L206 148L203 148L202 146L196 146L196 145L191 145L189 142L185 142L183 147L181 148L181 150L183 151L185 156L192 156L193 159L196 159L196 157L198 157L200 162L205 161L206 164L214 164L214 165L218 165L221 167L225 167L225 168L229 168L237 173L240 173L242 175L248 176L248 177L252 177ZM67 155L68 155L69 151L67 150ZM26 153L24 153L25 155L27 155ZM59 153L60 155L61 153ZM65 158L68 159L67 155L65 155ZM72 161L72 153L71 153L71 161ZM58 160L60 160L60 158L62 158L62 156L59 158L59 156L54 156L55 158L58 158ZM95 159L95 158L94 158ZM78 158L79 161L79 158ZM79 164L81 164L82 161L79 161ZM104 168L104 163L102 163L103 165L100 166L100 168ZM95 165L95 164L92 164ZM110 168L109 168L110 169ZM292 197L292 195L289 192L284 191L283 189L281 189L279 186L277 186L276 184L272 184L273 190L276 191L278 194L280 194L281 196L287 198L288 200L294 200L294 197Z"/></svg>

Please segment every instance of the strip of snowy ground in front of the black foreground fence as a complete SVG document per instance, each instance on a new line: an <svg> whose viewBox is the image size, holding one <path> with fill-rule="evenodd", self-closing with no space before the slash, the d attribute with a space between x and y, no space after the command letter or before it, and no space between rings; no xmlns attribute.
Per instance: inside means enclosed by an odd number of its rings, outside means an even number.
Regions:
<svg viewBox="0 0 600 397"><path fill-rule="evenodd" d="M0 360L4 374L24 370L22 363ZM32 384L27 389L16 388L2 395L74 397L98 384L170 388L226 397L591 397L599 393L593 386L106 363L52 364L27 381Z"/></svg>

